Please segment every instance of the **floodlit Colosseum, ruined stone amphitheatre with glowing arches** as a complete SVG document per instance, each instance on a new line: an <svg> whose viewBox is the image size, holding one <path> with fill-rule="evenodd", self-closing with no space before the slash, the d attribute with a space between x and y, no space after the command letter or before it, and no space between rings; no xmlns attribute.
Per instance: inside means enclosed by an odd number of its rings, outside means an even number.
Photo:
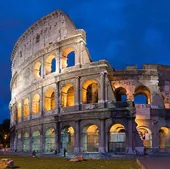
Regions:
<svg viewBox="0 0 170 169"><path fill-rule="evenodd" d="M86 33L62 11L16 42L10 147L40 154L170 152L170 67L92 62Z"/></svg>

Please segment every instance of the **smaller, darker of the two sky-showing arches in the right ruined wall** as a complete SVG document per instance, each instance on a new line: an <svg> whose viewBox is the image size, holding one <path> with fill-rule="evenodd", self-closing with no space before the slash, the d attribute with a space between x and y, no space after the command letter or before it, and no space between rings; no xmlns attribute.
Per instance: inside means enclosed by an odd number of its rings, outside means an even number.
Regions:
<svg viewBox="0 0 170 169"><path fill-rule="evenodd" d="M126 102L127 101L126 90L122 87L117 88L115 90L115 97L116 101Z"/></svg>

